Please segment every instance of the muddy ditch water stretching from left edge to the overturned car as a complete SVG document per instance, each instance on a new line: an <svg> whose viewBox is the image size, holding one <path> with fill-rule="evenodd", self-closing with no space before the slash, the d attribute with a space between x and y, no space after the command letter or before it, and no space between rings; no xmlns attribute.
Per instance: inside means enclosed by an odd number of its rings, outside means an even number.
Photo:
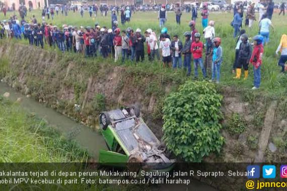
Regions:
<svg viewBox="0 0 287 191"><path fill-rule="evenodd" d="M5 92L10 93L9 99L11 101L16 101L18 98L21 98L22 101L20 102L20 106L24 108L24 110L29 113L36 113L37 116L44 118L49 125L54 126L64 135L69 136L74 134L75 136L73 136L73 139L75 139L82 147L87 148L95 159L98 158L100 149L107 149L106 143L101 134L92 131L89 127L81 125L64 115L61 115L51 108L47 108L44 105L39 104L33 99L26 98L7 84L0 82L0 95L3 95Z"/></svg>

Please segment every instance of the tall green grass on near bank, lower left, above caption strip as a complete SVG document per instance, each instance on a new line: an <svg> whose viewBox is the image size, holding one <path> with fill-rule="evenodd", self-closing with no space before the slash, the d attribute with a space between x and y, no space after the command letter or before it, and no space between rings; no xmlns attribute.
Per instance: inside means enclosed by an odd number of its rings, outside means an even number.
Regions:
<svg viewBox="0 0 287 191"><path fill-rule="evenodd" d="M0 97L0 162L85 162L88 152Z"/></svg>

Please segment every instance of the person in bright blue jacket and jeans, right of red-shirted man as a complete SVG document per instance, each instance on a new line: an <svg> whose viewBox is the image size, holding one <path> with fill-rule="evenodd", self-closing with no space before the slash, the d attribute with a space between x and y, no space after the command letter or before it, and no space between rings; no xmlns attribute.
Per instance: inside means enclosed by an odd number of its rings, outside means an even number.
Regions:
<svg viewBox="0 0 287 191"><path fill-rule="evenodd" d="M220 73L221 73L221 64L223 60L223 54L222 54L222 47L221 44L221 38L216 37L213 39L214 47L213 47L213 55L212 55L212 76L210 82L214 81L215 77L216 83L219 83L220 81Z"/></svg>

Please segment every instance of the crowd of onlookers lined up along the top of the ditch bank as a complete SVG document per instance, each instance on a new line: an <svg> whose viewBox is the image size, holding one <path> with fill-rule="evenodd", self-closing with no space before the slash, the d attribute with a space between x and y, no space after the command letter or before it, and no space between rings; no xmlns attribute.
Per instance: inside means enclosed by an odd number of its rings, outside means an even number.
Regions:
<svg viewBox="0 0 287 191"><path fill-rule="evenodd" d="M168 29L164 27L166 20L161 21L162 16L166 16L165 11L166 7L163 5L159 11L159 21L162 28L159 36L152 29L145 31L130 27L123 29L124 23L129 22L131 16L129 7L124 7L122 12L124 12L125 17L124 22L122 22L122 29L118 25L116 10L112 10L111 28L101 27L99 23L95 23L94 26L81 26L79 28L66 24L58 27L45 21L39 23L35 16L31 18L31 22L26 22L24 19L20 22L17 16L13 16L9 20L1 22L0 37L2 39L21 39L24 37L30 45L37 47L43 48L44 45L48 45L54 49L57 47L62 52L75 52L84 54L86 57L112 57L115 62L121 61L122 63L127 60L138 63L145 60L145 54L148 54L150 61L162 61L164 67L184 68L188 76L191 75L191 62L193 60L195 79L198 78L199 66L204 78L210 77L209 81L219 83L223 48L221 38L215 35L214 21L208 21L207 5L204 4L201 11L202 34L196 29L196 21L191 20L188 24L190 31L183 34L184 42L181 42L180 34L172 37L168 34ZM175 12L179 13L176 14L176 22L180 24L181 10L175 9ZM233 20L233 27L238 26L235 27L237 41L233 66L233 70L236 72L234 78L241 78L243 68L244 79L247 79L248 66L251 63L254 71L253 89L257 89L261 81L260 68L264 44L268 42L268 34L266 33L269 33L267 29L272 25L268 15L263 14L260 21L260 33L253 37L253 43L251 43L246 31L240 29L242 20L238 21L237 18L241 18L240 14L241 8L239 7ZM145 51L145 47L147 47L147 51ZM287 35L282 36L276 54L278 52L281 52L278 64L284 72L287 69L284 65L287 61Z"/></svg>

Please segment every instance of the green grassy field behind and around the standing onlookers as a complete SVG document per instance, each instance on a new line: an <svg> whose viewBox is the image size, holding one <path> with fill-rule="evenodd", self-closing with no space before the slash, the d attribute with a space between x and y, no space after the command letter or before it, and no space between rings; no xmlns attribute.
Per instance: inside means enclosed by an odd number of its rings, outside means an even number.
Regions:
<svg viewBox="0 0 287 191"><path fill-rule="evenodd" d="M16 13L18 14L18 13ZM26 20L29 20L32 15L35 15L38 22L41 21L41 12L33 11L28 13L28 17ZM12 15L12 12L8 13L7 17ZM231 85L231 86L241 86L246 88L251 88L253 86L253 73L252 66L250 66L249 78L247 80L235 80L233 79L234 74L231 73L232 65L235 57L235 40L233 39L233 28L230 26L230 22L232 21L233 13L211 13L209 16L209 20L215 21L215 29L216 36L222 38L222 47L224 51L224 61L222 64L222 77L221 84L222 85ZM181 25L178 26L175 23L175 15L174 13L168 13L168 21L166 23L166 27L168 28L168 33L172 35L179 35L180 39L183 40L183 33L185 31L189 31L188 22L190 21L190 14L183 13L181 19ZM0 16L0 19L3 20L4 15ZM270 33L270 42L267 46L265 46L264 56L263 56L263 66L262 66L262 80L261 80L261 90L267 90L268 92L275 93L279 96L285 92L285 87L287 84L287 76L280 74L280 67L277 66L278 57L275 56L275 50L280 41L280 37L282 34L286 32L287 23L283 22L285 17L278 16L278 14L274 13L273 15L273 25L275 27L275 32L271 31ZM118 16L118 21L120 23L120 16ZM90 18L88 12L85 12L84 18L81 18L78 12L73 13L69 12L68 16L55 16L54 20L49 20L48 23L52 23L53 25L62 26L62 24L74 25L74 26L94 26L95 22L98 22L100 26L111 27L111 16L110 13L107 17L98 16L97 18ZM156 12L136 12L132 15L131 22L126 24L125 26L119 26L121 29L126 29L127 27L131 27L133 29L140 28L141 31L145 31L148 28L156 31L157 35L159 35L159 21L157 19ZM196 28L201 32L201 19L197 19ZM249 36L252 37L258 33L258 22L255 22L252 30L249 33ZM248 31L248 29L246 29ZM49 49L49 48L45 48ZM99 59L99 58L96 58ZM147 60L147 59L146 59ZM101 60L100 60L101 61ZM112 59L108 60L112 62ZM134 65L133 63L127 63L127 65ZM152 67L151 67L152 65ZM193 64L192 64L193 65ZM143 70L147 68L152 68L153 71L163 70L162 66L159 64L152 64L149 61L145 61L143 64L138 64L137 67L142 67ZM165 69L166 72L174 72L172 69ZM200 73L200 72L199 72ZM192 66L192 74L193 74L193 66ZM185 77L184 72L182 72L182 77ZM191 75L193 77L193 75Z"/></svg>

